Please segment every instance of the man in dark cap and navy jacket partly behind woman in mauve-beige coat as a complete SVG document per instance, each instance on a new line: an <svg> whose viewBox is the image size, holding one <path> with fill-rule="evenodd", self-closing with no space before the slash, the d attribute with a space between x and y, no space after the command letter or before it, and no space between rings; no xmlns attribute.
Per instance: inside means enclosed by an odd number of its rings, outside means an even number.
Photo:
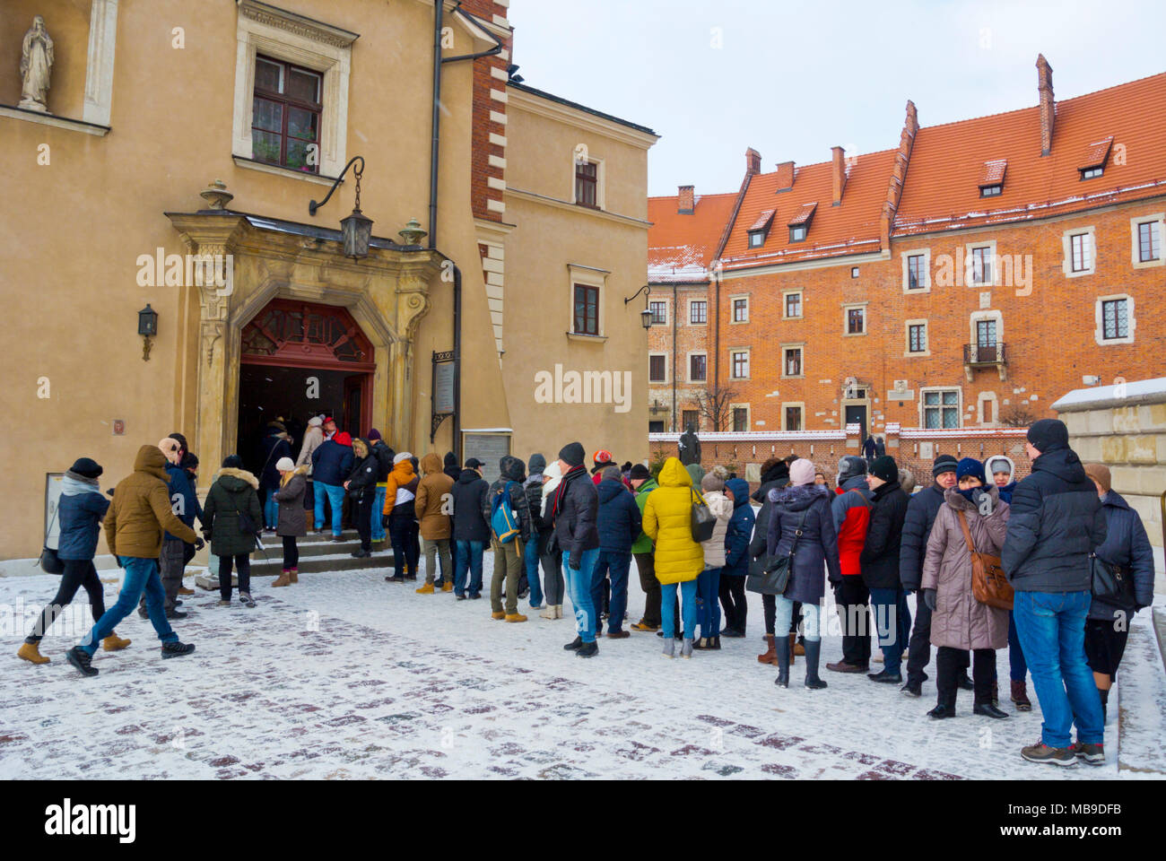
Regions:
<svg viewBox="0 0 1166 861"><path fill-rule="evenodd" d="M899 544L899 581L905 592L919 593L922 587L923 558L927 555L927 539L930 538L935 516L943 505L943 492L955 487L956 459L940 455L932 466L932 484L920 490L907 503L907 517L902 522L902 540ZM921 595L920 595L921 598ZM932 611L922 600L915 601L915 626L911 631L907 646L907 684L902 692L909 696L922 695L922 684L927 679L923 670L932 659ZM968 671L963 671L964 678ZM960 679L961 687L964 680ZM971 679L967 688L971 688Z"/></svg>

